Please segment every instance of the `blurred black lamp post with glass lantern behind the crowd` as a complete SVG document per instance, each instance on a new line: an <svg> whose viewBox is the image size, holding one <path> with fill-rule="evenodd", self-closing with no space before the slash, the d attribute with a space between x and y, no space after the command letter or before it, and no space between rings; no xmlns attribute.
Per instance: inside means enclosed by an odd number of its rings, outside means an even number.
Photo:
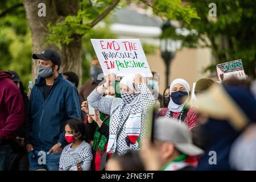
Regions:
<svg viewBox="0 0 256 182"><path fill-rule="evenodd" d="M166 28L172 26L170 21L167 21L162 26L162 31L166 30ZM166 65L166 86L169 86L169 75L170 75L170 64L172 59L175 57L176 53L176 42L170 38L161 39L160 43L161 56L164 60L164 64Z"/></svg>

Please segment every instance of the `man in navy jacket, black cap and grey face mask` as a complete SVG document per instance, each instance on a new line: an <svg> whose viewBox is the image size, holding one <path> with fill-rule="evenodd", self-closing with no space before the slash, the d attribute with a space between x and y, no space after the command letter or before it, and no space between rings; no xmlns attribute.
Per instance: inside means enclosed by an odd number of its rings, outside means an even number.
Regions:
<svg viewBox="0 0 256 182"><path fill-rule="evenodd" d="M81 115L79 97L75 86L58 73L59 53L46 49L32 58L38 59L39 76L28 105L25 142L30 170L55 171L59 169L60 154L65 145L65 122Z"/></svg>

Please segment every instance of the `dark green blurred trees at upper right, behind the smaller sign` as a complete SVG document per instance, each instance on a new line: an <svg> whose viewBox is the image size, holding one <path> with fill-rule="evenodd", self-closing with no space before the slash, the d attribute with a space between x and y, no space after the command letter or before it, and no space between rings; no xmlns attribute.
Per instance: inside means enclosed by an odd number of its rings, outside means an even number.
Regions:
<svg viewBox="0 0 256 182"><path fill-rule="evenodd" d="M191 34L176 34L171 27L166 34L183 41L184 47L209 47L215 63L204 71L216 72L216 64L242 59L245 73L255 76L256 1L250 0L184 0L196 9L200 19L191 23L181 20L181 28ZM216 17L209 15L210 3L216 4Z"/></svg>

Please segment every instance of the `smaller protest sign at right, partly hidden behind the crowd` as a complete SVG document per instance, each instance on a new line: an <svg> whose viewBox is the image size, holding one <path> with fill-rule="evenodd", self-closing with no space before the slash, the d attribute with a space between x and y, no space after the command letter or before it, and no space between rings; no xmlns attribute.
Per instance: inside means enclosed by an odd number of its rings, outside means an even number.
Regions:
<svg viewBox="0 0 256 182"><path fill-rule="evenodd" d="M238 79L246 79L245 72L243 71L242 60L229 61L216 65L218 80L221 82L230 78L237 77Z"/></svg>

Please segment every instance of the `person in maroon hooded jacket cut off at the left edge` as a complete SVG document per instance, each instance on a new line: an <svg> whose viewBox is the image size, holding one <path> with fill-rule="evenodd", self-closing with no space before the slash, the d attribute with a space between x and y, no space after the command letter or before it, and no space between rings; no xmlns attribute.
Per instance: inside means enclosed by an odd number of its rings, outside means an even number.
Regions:
<svg viewBox="0 0 256 182"><path fill-rule="evenodd" d="M0 171L10 169L15 132L25 119L22 95L11 76L0 71Z"/></svg>

